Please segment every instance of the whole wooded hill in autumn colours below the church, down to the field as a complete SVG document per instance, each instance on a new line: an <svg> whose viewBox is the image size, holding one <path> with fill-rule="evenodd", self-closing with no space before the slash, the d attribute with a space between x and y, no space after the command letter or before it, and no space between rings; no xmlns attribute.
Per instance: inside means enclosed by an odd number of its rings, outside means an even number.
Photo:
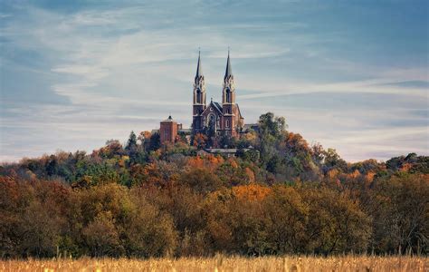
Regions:
<svg viewBox="0 0 429 272"><path fill-rule="evenodd" d="M197 155L148 131L0 168L0 257L429 252L429 158L348 163L263 114Z"/></svg>

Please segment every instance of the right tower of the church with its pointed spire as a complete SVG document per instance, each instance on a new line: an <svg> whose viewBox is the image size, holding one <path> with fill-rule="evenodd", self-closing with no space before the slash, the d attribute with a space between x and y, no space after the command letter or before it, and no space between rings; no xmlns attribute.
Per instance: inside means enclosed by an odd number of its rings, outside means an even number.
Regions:
<svg viewBox="0 0 429 272"><path fill-rule="evenodd" d="M223 130L226 135L235 136L236 131L236 118L235 114L235 85L234 85L234 75L231 67L231 61L229 58L228 50L228 59L226 61L226 70L224 75L224 88L222 90L222 109L223 109Z"/></svg>

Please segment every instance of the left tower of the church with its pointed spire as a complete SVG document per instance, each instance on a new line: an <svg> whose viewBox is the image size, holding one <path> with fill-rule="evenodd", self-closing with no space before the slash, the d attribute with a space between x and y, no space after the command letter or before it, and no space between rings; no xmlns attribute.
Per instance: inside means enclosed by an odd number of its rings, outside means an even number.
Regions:
<svg viewBox="0 0 429 272"><path fill-rule="evenodd" d="M194 81L194 102L193 102L193 119L192 128L194 133L203 130L204 121L201 113L205 111L205 78L203 75L203 69L201 66L201 55L198 52L198 63L196 64L196 74Z"/></svg>

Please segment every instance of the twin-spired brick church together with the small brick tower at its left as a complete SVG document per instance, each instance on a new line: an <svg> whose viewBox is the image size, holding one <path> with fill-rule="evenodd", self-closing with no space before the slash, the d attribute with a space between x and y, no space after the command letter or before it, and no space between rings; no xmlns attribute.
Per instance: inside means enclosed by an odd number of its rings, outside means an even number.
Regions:
<svg viewBox="0 0 429 272"><path fill-rule="evenodd" d="M198 53L196 73L194 78L193 102L192 102L192 125L190 130L182 128L171 116L160 122L158 132L161 143L175 142L177 134L195 135L203 133L209 137L230 136L238 138L243 132L244 118L240 107L235 102L235 84L231 59L226 59L224 83L222 85L222 103L213 100L207 104L207 92L205 89L205 76L201 65L201 53Z"/></svg>

